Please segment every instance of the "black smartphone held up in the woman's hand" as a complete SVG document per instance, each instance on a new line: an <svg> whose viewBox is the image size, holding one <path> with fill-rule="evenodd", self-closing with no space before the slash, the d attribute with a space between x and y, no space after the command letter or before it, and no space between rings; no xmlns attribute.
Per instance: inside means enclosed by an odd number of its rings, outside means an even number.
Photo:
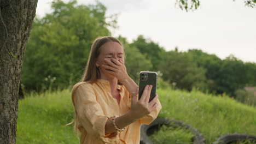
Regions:
<svg viewBox="0 0 256 144"><path fill-rule="evenodd" d="M141 71L141 73L139 73L139 99L141 98L144 88L147 85L153 86L150 93L149 101L151 101L155 97L157 79L158 74L154 71Z"/></svg>

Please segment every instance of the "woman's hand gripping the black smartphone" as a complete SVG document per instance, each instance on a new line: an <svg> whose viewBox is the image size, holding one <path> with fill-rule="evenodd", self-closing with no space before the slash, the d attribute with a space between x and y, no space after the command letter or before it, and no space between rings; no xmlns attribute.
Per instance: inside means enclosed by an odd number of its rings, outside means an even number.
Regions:
<svg viewBox="0 0 256 144"><path fill-rule="evenodd" d="M156 101L158 100L158 94L155 95L155 98L152 99L150 102L150 93L152 90L152 85L147 85L144 88L144 91L142 93L141 99L138 100L138 89L135 93L132 94L132 101L131 101L131 109L130 114L132 118L139 119L142 118L149 113L151 113L158 103Z"/></svg>

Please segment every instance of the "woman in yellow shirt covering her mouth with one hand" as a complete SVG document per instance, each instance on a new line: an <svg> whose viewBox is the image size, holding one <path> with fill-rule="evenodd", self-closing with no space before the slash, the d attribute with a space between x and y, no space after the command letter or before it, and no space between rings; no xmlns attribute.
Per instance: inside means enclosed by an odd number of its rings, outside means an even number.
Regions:
<svg viewBox="0 0 256 144"><path fill-rule="evenodd" d="M151 89L146 86L138 100L138 86L127 74L120 41L97 38L82 80L72 89L80 143L139 143L140 125L151 123L161 109L157 94L148 102Z"/></svg>

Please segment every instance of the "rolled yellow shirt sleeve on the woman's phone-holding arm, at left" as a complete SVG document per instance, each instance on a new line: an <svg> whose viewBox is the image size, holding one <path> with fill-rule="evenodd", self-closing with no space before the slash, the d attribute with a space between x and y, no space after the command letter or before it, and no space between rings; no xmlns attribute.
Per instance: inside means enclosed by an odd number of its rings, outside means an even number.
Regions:
<svg viewBox="0 0 256 144"><path fill-rule="evenodd" d="M83 125L88 135L104 143L112 143L119 135L105 135L105 125L109 117L105 116L97 103L94 89L89 83L78 86L74 90L74 107L78 122Z"/></svg>

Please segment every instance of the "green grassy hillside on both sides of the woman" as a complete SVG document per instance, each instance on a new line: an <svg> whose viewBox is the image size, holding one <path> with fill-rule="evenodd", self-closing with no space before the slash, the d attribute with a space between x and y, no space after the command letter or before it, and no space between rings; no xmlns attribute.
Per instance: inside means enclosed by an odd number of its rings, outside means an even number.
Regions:
<svg viewBox="0 0 256 144"><path fill-rule="evenodd" d="M19 100L19 143L79 143L73 133L70 90L30 94ZM175 118L198 129L213 142L227 133L256 135L256 109L228 97L158 89L162 110L159 117Z"/></svg>

